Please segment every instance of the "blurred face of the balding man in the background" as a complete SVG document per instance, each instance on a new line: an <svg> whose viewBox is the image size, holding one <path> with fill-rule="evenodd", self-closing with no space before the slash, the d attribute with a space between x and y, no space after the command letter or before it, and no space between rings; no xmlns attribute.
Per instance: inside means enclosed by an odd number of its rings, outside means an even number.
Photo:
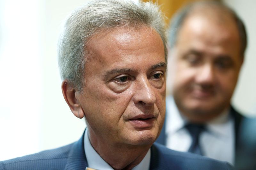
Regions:
<svg viewBox="0 0 256 170"><path fill-rule="evenodd" d="M242 64L234 21L187 18L172 49L173 97L183 114L210 119L229 106ZM173 63L172 63L173 62ZM202 115L207 114L207 117Z"/></svg>

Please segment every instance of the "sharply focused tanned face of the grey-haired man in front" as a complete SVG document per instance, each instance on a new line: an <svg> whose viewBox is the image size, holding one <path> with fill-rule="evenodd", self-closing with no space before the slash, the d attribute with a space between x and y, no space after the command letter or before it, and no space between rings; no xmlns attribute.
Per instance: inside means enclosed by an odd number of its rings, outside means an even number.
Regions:
<svg viewBox="0 0 256 170"><path fill-rule="evenodd" d="M165 114L164 45L148 27L113 28L86 47L84 92L76 94L90 139L113 144L152 144Z"/></svg>

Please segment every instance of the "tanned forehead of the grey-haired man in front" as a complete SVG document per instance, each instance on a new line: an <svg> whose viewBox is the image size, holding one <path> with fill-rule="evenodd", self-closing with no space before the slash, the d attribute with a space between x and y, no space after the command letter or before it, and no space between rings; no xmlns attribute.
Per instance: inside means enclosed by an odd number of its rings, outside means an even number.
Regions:
<svg viewBox="0 0 256 170"><path fill-rule="evenodd" d="M148 47L155 48L156 39L161 39L161 36L151 27L122 26L100 30L90 38L85 50L89 54L98 54L98 56L106 55L106 52L112 53L117 49L122 50L122 53L125 53L126 50L127 53L132 53L132 50L141 48L142 41L143 45L146 43ZM160 43L163 46L162 39ZM131 44L133 45L131 46Z"/></svg>

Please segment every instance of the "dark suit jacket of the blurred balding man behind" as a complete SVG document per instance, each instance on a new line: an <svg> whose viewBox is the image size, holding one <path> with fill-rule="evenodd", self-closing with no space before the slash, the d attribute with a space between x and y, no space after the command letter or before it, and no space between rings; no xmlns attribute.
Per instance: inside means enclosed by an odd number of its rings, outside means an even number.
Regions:
<svg viewBox="0 0 256 170"><path fill-rule="evenodd" d="M256 119L246 118L233 107L230 114L235 120L235 168L239 170L256 170ZM166 145L165 125L157 143Z"/></svg>

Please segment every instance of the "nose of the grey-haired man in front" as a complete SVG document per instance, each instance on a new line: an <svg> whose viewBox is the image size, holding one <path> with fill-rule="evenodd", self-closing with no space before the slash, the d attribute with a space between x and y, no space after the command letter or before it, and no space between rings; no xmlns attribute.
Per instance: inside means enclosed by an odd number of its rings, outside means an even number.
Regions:
<svg viewBox="0 0 256 170"><path fill-rule="evenodd" d="M141 78L134 89L135 92L133 98L135 103L141 103L146 106L152 106L155 104L156 95L154 87L150 84L148 78Z"/></svg>

